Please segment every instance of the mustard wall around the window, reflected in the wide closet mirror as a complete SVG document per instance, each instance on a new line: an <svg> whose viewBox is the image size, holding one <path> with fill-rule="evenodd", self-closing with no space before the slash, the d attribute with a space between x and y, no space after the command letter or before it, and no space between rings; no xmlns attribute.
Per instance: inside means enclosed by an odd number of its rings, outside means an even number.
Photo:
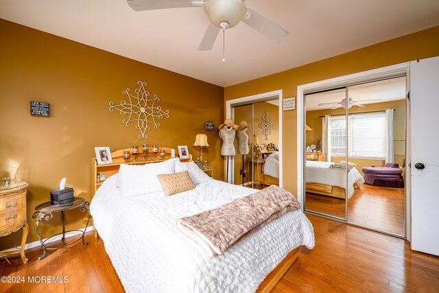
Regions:
<svg viewBox="0 0 439 293"><path fill-rule="evenodd" d="M353 107L349 109L349 113L364 113L369 111L381 111L386 109L394 109L393 113L393 137L394 137L394 163L399 163L402 167L405 159L405 99L399 101L368 104L365 108ZM312 128L312 131L307 131L307 145L316 144L317 138L322 139L322 118L324 115L344 115L346 110L344 108L338 108L335 110L313 110L307 111L307 124ZM332 156L331 161L346 161L346 158L339 156ZM361 172L363 167L383 167L384 160L370 160L370 159L349 159L349 161L357 164L357 169Z"/></svg>

